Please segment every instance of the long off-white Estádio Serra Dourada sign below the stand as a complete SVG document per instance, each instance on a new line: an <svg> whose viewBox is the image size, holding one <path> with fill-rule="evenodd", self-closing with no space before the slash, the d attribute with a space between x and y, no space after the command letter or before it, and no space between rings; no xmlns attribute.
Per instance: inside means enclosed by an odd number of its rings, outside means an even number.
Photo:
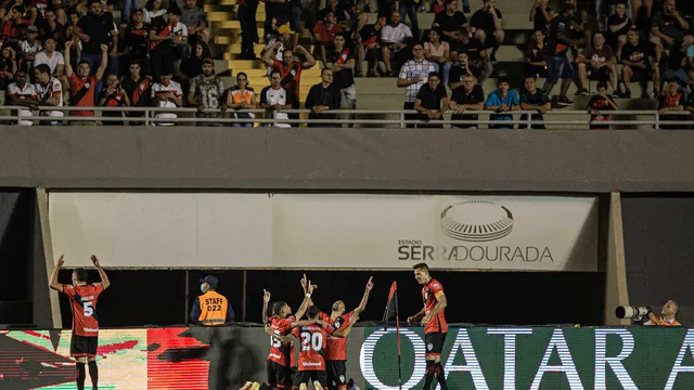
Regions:
<svg viewBox="0 0 694 390"><path fill-rule="evenodd" d="M112 266L596 271L597 199L51 193L55 253ZM107 260L107 261L106 261Z"/></svg>

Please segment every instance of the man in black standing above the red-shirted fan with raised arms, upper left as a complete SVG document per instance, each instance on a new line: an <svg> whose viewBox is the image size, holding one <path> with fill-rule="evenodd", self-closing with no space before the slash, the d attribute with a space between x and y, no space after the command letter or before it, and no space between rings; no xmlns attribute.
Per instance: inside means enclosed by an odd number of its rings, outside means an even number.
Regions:
<svg viewBox="0 0 694 390"><path fill-rule="evenodd" d="M113 15L110 12L104 12L104 4L100 0L90 0L89 14L77 22L77 29L74 34L82 41L82 55L79 61L89 65L92 75L97 69L101 68L102 61L106 61L104 66L108 62L108 56L103 56L101 46L111 44L112 55L115 54L118 48L118 31L115 29ZM68 61L66 60L65 62ZM97 81L101 82L101 77ZM98 87L98 89L100 88ZM89 105L93 105L93 99Z"/></svg>

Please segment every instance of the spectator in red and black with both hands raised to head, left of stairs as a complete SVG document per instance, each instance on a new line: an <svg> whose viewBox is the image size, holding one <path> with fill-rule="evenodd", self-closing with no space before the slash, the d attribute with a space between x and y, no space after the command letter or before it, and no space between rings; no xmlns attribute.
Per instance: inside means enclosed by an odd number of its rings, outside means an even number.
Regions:
<svg viewBox="0 0 694 390"><path fill-rule="evenodd" d="M281 43L277 42L275 46L279 47ZM304 49L303 46L297 46L296 51L303 53L306 56L305 62L294 61L294 52L291 49L284 49L284 53L282 53L282 61L277 61L272 58L272 54L274 53L275 48L271 48L266 51L262 55L262 62L267 66L271 66L273 69L280 72L282 87L285 88L290 93L292 93L288 102L293 104L292 108L299 107L299 96L300 91L299 87L301 84L301 72L304 69L308 69L316 65L316 58L308 52L308 50ZM270 80L272 81L272 79Z"/></svg>

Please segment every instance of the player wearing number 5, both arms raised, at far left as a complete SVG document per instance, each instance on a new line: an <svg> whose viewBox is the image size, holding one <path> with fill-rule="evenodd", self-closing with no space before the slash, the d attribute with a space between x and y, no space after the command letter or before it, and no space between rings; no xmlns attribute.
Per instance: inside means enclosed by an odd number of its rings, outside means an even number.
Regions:
<svg viewBox="0 0 694 390"><path fill-rule="evenodd" d="M57 264L51 274L50 287L67 295L73 311L73 338L69 346L69 354L77 361L77 389L85 389L85 364L89 364L89 377L92 388L97 389L99 382L99 368L97 367L97 347L99 341L99 320L97 316L97 300L99 295L108 286L108 276L101 268L99 259L91 256L91 261L99 271L101 283L87 284L87 270L73 271L73 284L57 283L57 273L65 263L64 255L57 259Z"/></svg>

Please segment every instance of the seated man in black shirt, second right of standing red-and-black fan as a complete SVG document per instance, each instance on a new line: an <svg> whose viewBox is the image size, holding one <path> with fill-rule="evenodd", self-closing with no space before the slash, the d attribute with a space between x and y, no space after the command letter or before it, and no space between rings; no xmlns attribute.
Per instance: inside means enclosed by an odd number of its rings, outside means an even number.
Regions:
<svg viewBox="0 0 694 390"><path fill-rule="evenodd" d="M624 98L631 98L631 81L642 83L641 98L648 98L646 83L653 81L654 99L660 98L660 67L651 65L646 49L639 43L639 30L632 28L627 34L627 44L621 49L621 80L625 83Z"/></svg>

